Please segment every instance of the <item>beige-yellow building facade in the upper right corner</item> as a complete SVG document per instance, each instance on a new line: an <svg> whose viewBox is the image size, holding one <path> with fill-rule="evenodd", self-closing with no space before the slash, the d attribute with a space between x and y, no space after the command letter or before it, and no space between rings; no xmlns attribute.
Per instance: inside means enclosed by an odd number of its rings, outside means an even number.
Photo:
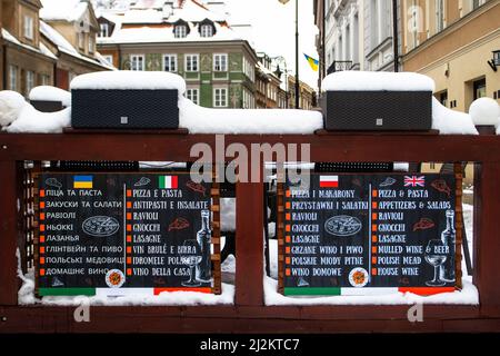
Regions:
<svg viewBox="0 0 500 356"><path fill-rule="evenodd" d="M407 0L402 16L403 69L431 77L442 105L467 112L480 97L500 102L499 0Z"/></svg>

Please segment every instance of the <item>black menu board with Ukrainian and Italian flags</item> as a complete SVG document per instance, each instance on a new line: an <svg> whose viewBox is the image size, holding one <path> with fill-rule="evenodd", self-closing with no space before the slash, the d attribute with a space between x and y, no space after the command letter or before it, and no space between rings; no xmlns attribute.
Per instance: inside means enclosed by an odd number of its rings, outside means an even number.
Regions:
<svg viewBox="0 0 500 356"><path fill-rule="evenodd" d="M42 174L38 294L210 291L210 208L187 174Z"/></svg>

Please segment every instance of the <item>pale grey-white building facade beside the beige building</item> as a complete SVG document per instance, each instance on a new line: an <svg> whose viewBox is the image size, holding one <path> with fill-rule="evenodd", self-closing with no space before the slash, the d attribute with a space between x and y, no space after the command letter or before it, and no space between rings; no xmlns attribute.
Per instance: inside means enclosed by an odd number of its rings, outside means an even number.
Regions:
<svg viewBox="0 0 500 356"><path fill-rule="evenodd" d="M392 0L314 0L320 80L341 70L393 71ZM398 33L401 32L399 1ZM398 48L400 43L398 42Z"/></svg>

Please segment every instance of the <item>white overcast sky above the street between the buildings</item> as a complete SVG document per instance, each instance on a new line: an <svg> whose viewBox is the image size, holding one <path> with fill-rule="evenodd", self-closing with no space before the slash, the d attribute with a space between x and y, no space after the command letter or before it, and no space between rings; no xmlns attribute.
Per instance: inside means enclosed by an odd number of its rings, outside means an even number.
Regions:
<svg viewBox="0 0 500 356"><path fill-rule="evenodd" d="M318 87L318 72L313 71L303 57L307 53L318 59L314 38L312 0L299 1L299 79L313 88ZM271 57L283 56L288 69L296 70L296 0L287 4L278 0L226 0L231 13L230 23L252 24L252 38L257 51L264 51ZM283 68L281 68L283 70Z"/></svg>

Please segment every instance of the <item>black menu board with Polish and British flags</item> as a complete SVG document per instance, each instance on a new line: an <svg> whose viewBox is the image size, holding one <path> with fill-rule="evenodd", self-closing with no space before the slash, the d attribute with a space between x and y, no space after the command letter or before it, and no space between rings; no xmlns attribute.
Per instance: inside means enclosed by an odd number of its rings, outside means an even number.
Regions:
<svg viewBox="0 0 500 356"><path fill-rule="evenodd" d="M283 293L453 290L454 187L453 175L311 174L307 188L287 182Z"/></svg>

